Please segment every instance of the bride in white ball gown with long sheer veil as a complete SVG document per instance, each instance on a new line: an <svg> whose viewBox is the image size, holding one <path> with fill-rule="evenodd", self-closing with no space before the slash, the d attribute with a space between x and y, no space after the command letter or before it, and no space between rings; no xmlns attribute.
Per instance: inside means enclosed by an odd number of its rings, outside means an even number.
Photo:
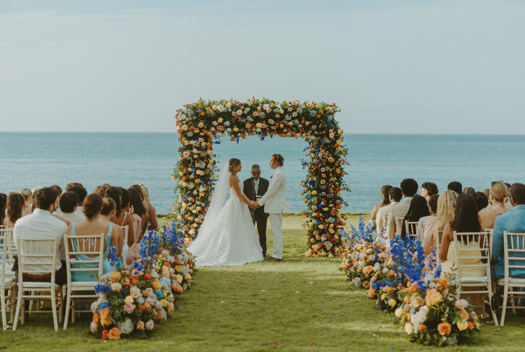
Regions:
<svg viewBox="0 0 525 352"><path fill-rule="evenodd" d="M239 159L225 165L195 241L188 251L197 266L240 265L262 260L262 249L247 205L253 205L241 191L237 173ZM226 193L230 198L224 204Z"/></svg>

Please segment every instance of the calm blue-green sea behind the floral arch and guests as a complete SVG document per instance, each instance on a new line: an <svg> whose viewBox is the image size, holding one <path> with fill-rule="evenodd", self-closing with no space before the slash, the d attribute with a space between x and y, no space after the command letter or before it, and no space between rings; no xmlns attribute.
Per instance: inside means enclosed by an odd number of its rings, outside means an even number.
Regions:
<svg viewBox="0 0 525 352"><path fill-rule="evenodd" d="M344 199L350 212L369 212L381 201L383 184L398 186L404 178L435 182L445 190L448 182L481 190L491 181L525 182L525 136L442 136L345 134L349 149L346 182L352 189ZM69 182L81 182L88 191L110 183L129 187L144 183L159 213L169 212L175 201L171 173L176 160L175 133L44 133L0 132L0 192L19 191ZM236 157L243 162L239 177L250 177L252 164L270 178L271 154L285 158L286 198L292 212L304 208L299 182L306 176L300 159L307 143L291 138L256 137L239 144L223 139L216 144L217 160ZM220 163L220 165L223 164Z"/></svg>

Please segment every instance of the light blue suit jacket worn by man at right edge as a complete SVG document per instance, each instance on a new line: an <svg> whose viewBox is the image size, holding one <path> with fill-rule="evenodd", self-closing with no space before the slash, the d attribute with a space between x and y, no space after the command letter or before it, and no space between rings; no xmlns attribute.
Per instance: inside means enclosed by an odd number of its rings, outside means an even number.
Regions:
<svg viewBox="0 0 525 352"><path fill-rule="evenodd" d="M497 278L505 276L505 258L503 254L503 231L507 232L525 232L525 204L514 206L514 209L497 216L494 222L492 239L492 258L491 262L494 267ZM516 245L516 243L515 243ZM511 256L518 256L517 253ZM512 261L511 264L518 264ZM519 264L525 264L525 260ZM509 275L512 277L525 277L524 269L510 268Z"/></svg>

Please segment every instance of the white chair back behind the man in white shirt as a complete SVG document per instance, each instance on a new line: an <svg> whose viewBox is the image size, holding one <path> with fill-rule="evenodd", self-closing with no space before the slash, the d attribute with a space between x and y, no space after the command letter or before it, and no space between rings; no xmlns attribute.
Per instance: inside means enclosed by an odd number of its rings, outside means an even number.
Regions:
<svg viewBox="0 0 525 352"><path fill-rule="evenodd" d="M16 239L18 250L18 273L29 275L51 274L51 283L55 283L56 256L58 237L54 239ZM23 282L24 275L18 275Z"/></svg>

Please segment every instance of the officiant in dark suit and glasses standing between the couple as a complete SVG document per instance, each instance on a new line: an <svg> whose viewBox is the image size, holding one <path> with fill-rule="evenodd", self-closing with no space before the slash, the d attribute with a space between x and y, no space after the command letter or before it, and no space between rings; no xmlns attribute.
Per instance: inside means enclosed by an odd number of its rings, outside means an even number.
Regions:
<svg viewBox="0 0 525 352"><path fill-rule="evenodd" d="M260 177L260 175L261 169L259 165L256 164L251 167L251 177L244 180L243 192L251 201L258 201L268 190L270 182ZM250 208L250 213L254 225L257 223L262 255L266 258L266 224L268 222L268 213L264 212L264 205L256 210Z"/></svg>

